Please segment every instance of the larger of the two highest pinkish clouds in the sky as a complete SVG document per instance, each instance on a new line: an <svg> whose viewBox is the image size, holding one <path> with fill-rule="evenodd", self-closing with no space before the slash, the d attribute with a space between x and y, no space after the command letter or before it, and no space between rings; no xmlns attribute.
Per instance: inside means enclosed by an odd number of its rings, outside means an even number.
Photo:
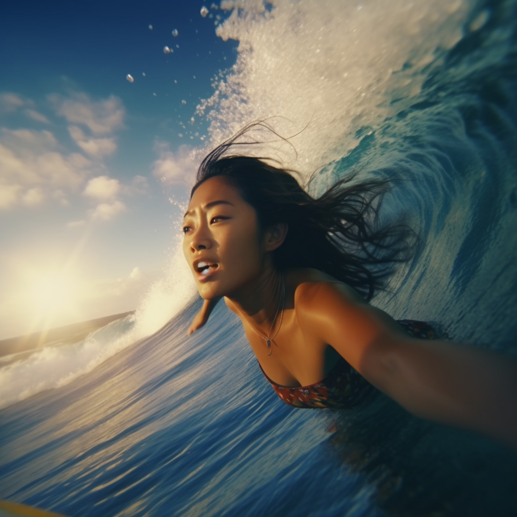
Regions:
<svg viewBox="0 0 517 517"><path fill-rule="evenodd" d="M57 114L72 124L82 124L92 133L110 133L123 126L125 110L121 100L114 95L94 101L84 93L75 93L71 99L53 94L49 100Z"/></svg>

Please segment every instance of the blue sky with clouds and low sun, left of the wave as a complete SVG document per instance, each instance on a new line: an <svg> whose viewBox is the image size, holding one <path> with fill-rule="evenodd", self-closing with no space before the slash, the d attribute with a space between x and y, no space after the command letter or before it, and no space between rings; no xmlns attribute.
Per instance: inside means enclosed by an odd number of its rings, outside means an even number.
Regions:
<svg viewBox="0 0 517 517"><path fill-rule="evenodd" d="M0 339L134 309L170 261L196 105L237 55L202 6L3 4Z"/></svg>

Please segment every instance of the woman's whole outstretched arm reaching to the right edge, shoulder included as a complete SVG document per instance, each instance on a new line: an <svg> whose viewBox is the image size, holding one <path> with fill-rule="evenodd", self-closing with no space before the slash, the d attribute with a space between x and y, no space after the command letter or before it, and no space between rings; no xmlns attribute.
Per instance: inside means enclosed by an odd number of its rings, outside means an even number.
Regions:
<svg viewBox="0 0 517 517"><path fill-rule="evenodd" d="M517 362L448 341L413 339L337 283L312 284L310 327L413 414L517 447ZM309 293L306 293L306 295ZM303 305L303 304L302 304Z"/></svg>

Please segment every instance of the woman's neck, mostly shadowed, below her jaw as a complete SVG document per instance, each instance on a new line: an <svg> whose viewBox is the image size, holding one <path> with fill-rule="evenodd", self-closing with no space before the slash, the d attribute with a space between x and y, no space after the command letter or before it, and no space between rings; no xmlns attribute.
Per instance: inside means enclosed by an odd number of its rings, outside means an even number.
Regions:
<svg viewBox="0 0 517 517"><path fill-rule="evenodd" d="M282 284L282 273L269 264L258 277L226 298L232 301L241 320L248 321L267 336L282 302Z"/></svg>

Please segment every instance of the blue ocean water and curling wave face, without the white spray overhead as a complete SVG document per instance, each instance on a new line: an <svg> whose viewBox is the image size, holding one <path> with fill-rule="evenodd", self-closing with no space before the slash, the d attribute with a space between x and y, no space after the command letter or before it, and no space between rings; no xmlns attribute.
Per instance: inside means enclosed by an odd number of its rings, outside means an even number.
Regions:
<svg viewBox="0 0 517 517"><path fill-rule="evenodd" d="M351 171L396 179L383 217L406 213L421 245L373 302L513 356L516 15L515 2L472 3L462 37L419 67L419 93L400 80L417 73L408 60L379 106L389 115L355 130L358 145L311 185ZM52 386L17 387L0 410L0 498L73 517L517 513L517 457L505 446L422 421L382 394L344 412L286 406L223 303L186 336L199 306L111 356L96 343L138 322L11 358L0 376L43 359L62 373Z"/></svg>

